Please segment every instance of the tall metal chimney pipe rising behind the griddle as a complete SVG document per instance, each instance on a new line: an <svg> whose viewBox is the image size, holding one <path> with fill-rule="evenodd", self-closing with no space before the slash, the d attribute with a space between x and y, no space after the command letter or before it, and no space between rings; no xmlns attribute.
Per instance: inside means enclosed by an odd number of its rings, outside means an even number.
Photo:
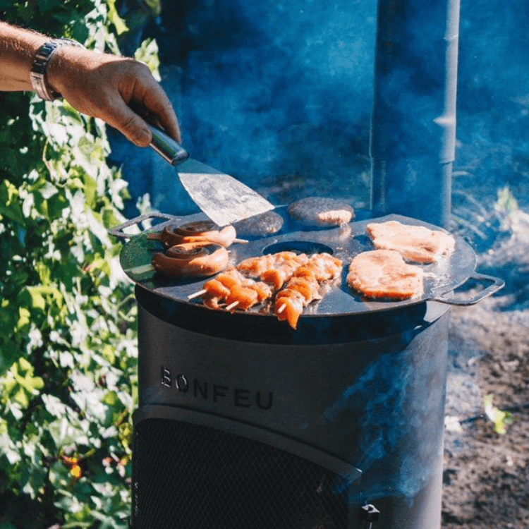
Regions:
<svg viewBox="0 0 529 529"><path fill-rule="evenodd" d="M448 227L459 0L379 0L371 209Z"/></svg>

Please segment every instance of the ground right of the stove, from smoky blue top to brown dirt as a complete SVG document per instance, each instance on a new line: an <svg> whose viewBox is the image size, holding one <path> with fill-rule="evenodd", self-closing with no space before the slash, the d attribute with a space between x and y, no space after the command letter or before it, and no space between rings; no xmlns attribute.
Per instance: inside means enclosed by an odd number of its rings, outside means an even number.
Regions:
<svg viewBox="0 0 529 529"><path fill-rule="evenodd" d="M491 145L461 146L454 213L478 251L478 272L506 286L451 310L443 529L529 528L529 163L506 148L492 157ZM497 178L494 187L510 184L518 207L511 201L502 209L485 185L475 186L490 183L500 167L509 178ZM487 418L487 395L512 415L504 434Z"/></svg>

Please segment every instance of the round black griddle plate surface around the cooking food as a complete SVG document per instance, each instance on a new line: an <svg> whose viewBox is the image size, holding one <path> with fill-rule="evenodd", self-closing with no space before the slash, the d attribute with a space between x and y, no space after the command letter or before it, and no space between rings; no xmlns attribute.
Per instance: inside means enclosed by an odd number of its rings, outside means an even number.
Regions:
<svg viewBox="0 0 529 529"><path fill-rule="evenodd" d="M462 238L456 237L456 248L450 257L431 265L418 265L424 269L426 274L424 281L425 293L420 298L402 301L367 300L351 290L346 284L348 265L352 257L361 252L375 249L365 231L367 224L395 220L400 221L402 224L425 226L432 230L442 229L418 219L391 214L376 219L352 221L349 224L332 229L310 229L310 231L306 231L306 228L293 223L288 218L285 207L278 207L275 211L284 216L285 224L283 229L272 236L256 238L247 244L231 245L229 248L231 264L237 265L248 257L284 250L298 250L308 254L327 251L334 257L341 259L343 261L341 281L337 281L336 285L331 286L329 292L325 294L322 300L310 303L303 311L304 316L339 316L378 312L421 303L425 300L451 303L451 292L458 286L463 285L471 277L476 279L486 278L494 281L494 278L489 276L475 274L476 257L473 249ZM123 270L136 284L159 296L169 298L178 303L201 305L200 298L188 300L188 296L200 291L205 281L210 278L175 280L167 278L152 269L148 272L142 272L141 268L148 268L154 253L163 251L162 243L150 239L149 233L161 231L167 224L182 225L206 218L203 214L174 217L174 219L155 226L154 229L133 236L121 250L121 266ZM499 290L499 288L501 288L501 285L497 285L496 290ZM204 310L210 309L204 307ZM269 315L267 311L263 310L262 306L251 308L247 313L259 316Z"/></svg>

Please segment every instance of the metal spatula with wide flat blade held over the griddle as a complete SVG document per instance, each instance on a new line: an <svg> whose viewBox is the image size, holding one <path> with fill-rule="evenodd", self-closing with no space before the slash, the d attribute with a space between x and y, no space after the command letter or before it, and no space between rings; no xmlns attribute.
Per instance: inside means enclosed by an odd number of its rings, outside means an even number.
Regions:
<svg viewBox="0 0 529 529"><path fill-rule="evenodd" d="M149 126L152 130L150 146L176 166L178 177L193 202L215 224L226 226L274 209L273 204L253 189L229 174L190 159L178 142L159 128Z"/></svg>

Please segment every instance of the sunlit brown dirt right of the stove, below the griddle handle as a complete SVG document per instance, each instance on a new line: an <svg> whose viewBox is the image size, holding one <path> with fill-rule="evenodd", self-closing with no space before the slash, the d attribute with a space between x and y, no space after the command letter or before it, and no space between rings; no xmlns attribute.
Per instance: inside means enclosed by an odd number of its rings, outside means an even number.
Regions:
<svg viewBox="0 0 529 529"><path fill-rule="evenodd" d="M444 529L529 528L529 313L502 303L452 310L446 415L458 422L445 432ZM484 416L488 394L512 413L504 434Z"/></svg>

